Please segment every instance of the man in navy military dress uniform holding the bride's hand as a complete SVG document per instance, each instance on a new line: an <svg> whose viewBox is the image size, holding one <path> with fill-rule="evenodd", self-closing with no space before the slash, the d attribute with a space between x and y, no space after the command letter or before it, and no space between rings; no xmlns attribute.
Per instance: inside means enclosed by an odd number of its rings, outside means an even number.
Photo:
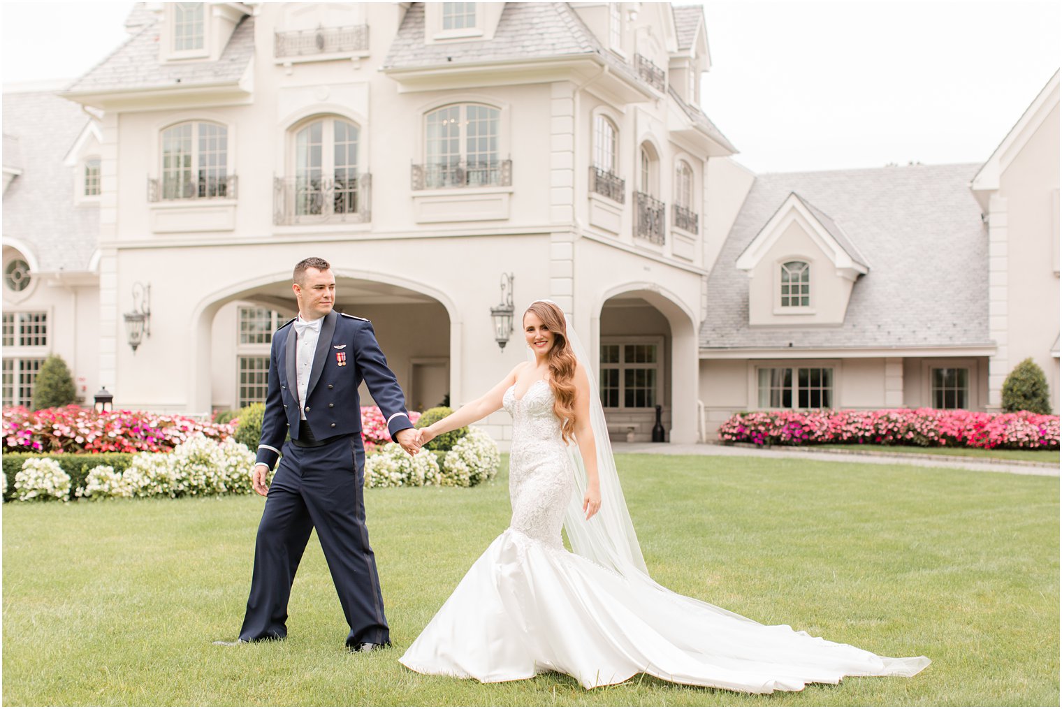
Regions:
<svg viewBox="0 0 1062 709"><path fill-rule="evenodd" d="M255 542L247 611L239 640L218 644L288 635L291 584L315 528L350 626L346 645L372 651L391 642L365 528L358 400L362 380L387 418L391 437L411 455L419 446L372 324L332 310L336 278L328 262L299 261L293 279L298 317L273 335L266 414L252 475L255 491L268 497ZM285 443L289 432L291 440ZM277 459L280 464L267 486Z"/></svg>

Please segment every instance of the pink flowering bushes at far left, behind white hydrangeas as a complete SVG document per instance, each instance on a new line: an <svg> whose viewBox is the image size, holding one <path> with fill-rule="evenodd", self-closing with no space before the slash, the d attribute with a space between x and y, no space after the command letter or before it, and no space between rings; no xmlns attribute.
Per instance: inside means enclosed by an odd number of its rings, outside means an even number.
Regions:
<svg viewBox="0 0 1062 709"><path fill-rule="evenodd" d="M187 416L144 411L97 414L79 407L3 410L3 452L169 452L196 433L223 440L232 423L204 423Z"/></svg>

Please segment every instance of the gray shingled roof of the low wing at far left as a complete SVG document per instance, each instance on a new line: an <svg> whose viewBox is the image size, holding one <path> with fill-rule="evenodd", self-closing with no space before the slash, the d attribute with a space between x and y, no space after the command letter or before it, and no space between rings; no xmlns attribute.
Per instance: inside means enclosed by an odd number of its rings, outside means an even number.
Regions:
<svg viewBox="0 0 1062 709"><path fill-rule="evenodd" d="M74 205L74 169L63 165L87 124L81 106L52 91L3 94L3 129L22 161L3 195L3 236L28 244L41 271L87 270L99 241L100 208Z"/></svg>

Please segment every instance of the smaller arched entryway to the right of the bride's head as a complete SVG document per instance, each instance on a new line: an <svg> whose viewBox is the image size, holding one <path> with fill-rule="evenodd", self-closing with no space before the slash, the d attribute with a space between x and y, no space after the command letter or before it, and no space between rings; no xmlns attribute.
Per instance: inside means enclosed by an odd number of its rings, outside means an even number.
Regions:
<svg viewBox="0 0 1062 709"><path fill-rule="evenodd" d="M660 290L617 289L598 317L598 387L613 440L697 442L697 340L689 313Z"/></svg>

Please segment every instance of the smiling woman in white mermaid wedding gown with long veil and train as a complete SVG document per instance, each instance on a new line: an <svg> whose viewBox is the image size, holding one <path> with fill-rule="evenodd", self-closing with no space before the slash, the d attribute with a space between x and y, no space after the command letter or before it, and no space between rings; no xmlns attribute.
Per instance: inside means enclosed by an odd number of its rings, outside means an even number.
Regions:
<svg viewBox="0 0 1062 709"><path fill-rule="evenodd" d="M670 591L646 570L588 360L563 311L524 313L534 361L421 429L421 443L504 408L513 417L508 530L473 564L400 662L483 682L563 672L589 689L645 672L741 692L851 675L912 676L925 657L879 657ZM575 553L561 540L564 526Z"/></svg>

